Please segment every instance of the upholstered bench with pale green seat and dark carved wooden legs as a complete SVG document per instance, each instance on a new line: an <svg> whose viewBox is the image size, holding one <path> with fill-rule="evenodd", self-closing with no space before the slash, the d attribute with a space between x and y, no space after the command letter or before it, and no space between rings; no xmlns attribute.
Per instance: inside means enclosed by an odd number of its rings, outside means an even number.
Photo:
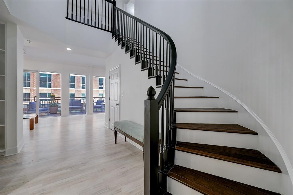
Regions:
<svg viewBox="0 0 293 195"><path fill-rule="evenodd" d="M143 159L144 159L144 126L137 124L132 121L115 121L114 122L114 137L115 143L117 143L117 131L124 135L124 141L126 138L137 143L139 146L143 148ZM161 144L161 132L159 132L159 152L160 152L160 144Z"/></svg>

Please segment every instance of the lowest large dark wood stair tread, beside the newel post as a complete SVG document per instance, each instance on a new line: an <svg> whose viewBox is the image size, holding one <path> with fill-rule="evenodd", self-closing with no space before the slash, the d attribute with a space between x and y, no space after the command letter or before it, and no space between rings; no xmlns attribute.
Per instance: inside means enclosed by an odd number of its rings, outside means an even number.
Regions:
<svg viewBox="0 0 293 195"><path fill-rule="evenodd" d="M174 165L168 177L205 195L280 195L248 184Z"/></svg>

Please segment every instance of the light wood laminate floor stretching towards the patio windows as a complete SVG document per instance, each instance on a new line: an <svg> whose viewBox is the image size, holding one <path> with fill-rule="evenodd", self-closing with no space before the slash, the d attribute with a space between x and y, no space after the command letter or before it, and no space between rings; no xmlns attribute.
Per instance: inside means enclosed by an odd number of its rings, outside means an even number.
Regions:
<svg viewBox="0 0 293 195"><path fill-rule="evenodd" d="M23 120L20 154L0 157L0 194L143 194L142 151L104 113Z"/></svg>

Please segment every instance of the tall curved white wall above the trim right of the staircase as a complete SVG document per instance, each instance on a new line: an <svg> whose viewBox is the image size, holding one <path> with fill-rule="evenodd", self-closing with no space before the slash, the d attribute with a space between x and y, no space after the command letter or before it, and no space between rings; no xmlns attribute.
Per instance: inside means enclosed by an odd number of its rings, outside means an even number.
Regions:
<svg viewBox="0 0 293 195"><path fill-rule="evenodd" d="M134 8L135 16L170 35L181 66L264 122L292 180L293 1L149 0L134 1ZM271 155L276 146L268 138L259 136L259 147Z"/></svg>

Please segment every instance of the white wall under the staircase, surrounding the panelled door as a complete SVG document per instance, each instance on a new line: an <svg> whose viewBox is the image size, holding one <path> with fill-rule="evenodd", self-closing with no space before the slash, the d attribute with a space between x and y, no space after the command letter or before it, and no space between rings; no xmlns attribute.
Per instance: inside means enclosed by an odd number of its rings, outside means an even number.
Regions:
<svg viewBox="0 0 293 195"><path fill-rule="evenodd" d="M114 41L113 41L114 43ZM156 87L155 79L147 79L147 71L141 71L141 65L135 65L135 59L117 46L115 52L106 59L106 112L105 126L109 121L109 70L120 65L120 120L129 120L144 125L144 100L147 99L147 89ZM157 88L155 88L157 92ZM122 97L123 92L123 97ZM156 94L158 95L158 94Z"/></svg>

